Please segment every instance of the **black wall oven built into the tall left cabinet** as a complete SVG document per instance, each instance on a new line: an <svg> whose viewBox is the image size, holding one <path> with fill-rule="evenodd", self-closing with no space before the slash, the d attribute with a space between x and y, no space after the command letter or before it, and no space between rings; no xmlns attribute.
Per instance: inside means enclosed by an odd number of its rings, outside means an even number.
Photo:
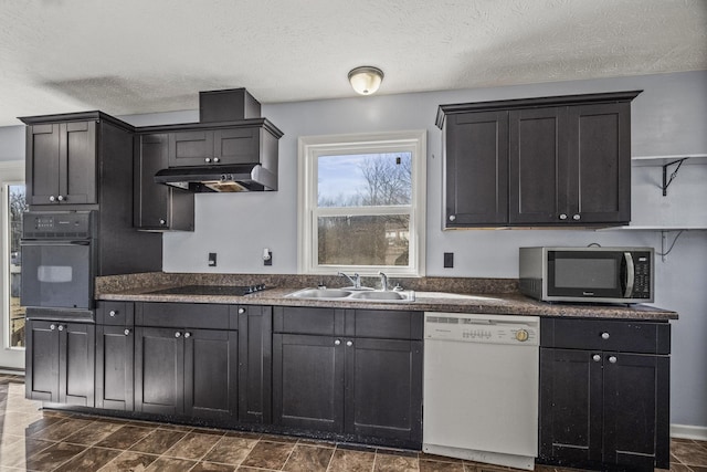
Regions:
<svg viewBox="0 0 707 472"><path fill-rule="evenodd" d="M93 315L96 230L95 211L24 213L20 300L28 317L44 312L38 308Z"/></svg>

